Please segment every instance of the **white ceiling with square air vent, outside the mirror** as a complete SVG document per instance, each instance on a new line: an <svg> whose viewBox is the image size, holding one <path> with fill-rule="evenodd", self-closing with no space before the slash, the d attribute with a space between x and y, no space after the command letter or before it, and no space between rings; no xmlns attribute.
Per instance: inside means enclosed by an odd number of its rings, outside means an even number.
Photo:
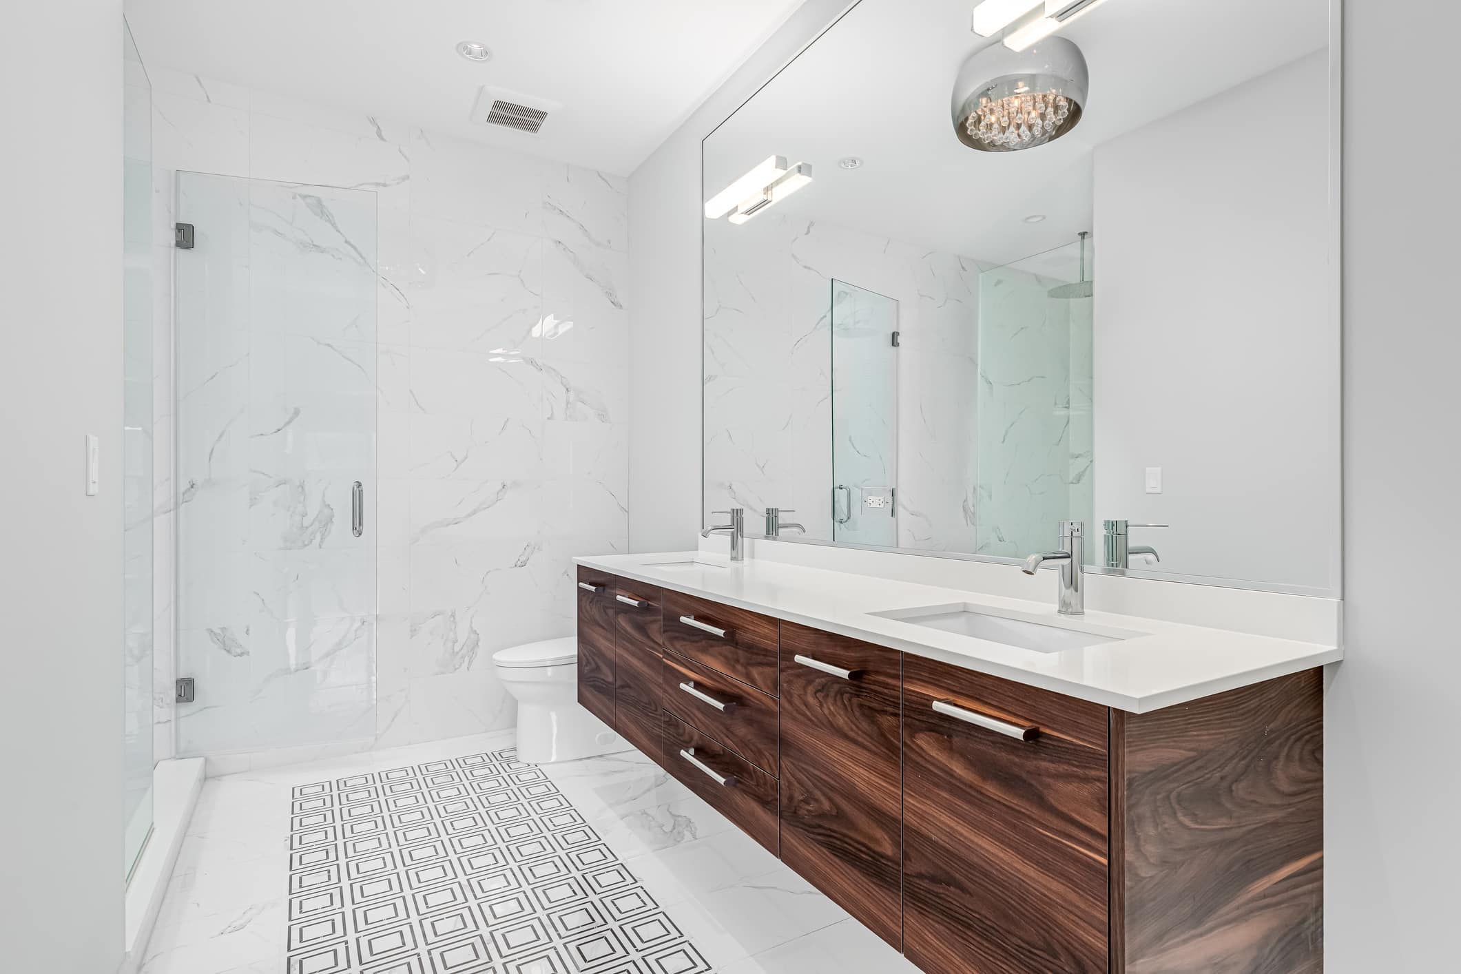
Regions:
<svg viewBox="0 0 1461 974"><path fill-rule="evenodd" d="M802 0L129 0L143 61L628 175ZM454 53L479 41L492 60ZM560 102L468 115L482 85Z"/></svg>

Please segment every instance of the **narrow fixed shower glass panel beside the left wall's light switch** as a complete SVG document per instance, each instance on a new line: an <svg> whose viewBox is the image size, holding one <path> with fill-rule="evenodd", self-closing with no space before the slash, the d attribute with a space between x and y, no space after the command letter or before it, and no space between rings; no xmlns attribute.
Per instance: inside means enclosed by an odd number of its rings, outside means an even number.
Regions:
<svg viewBox="0 0 1461 974"><path fill-rule="evenodd" d="M123 775L127 873L152 832L152 85L123 23Z"/></svg>

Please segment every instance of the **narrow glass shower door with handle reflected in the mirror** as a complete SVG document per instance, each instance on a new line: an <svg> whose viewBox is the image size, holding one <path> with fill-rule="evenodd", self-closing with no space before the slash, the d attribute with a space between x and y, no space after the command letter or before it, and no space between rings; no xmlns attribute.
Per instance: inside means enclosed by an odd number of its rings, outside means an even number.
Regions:
<svg viewBox="0 0 1461 974"><path fill-rule="evenodd" d="M899 302L831 282L833 540L897 545Z"/></svg>

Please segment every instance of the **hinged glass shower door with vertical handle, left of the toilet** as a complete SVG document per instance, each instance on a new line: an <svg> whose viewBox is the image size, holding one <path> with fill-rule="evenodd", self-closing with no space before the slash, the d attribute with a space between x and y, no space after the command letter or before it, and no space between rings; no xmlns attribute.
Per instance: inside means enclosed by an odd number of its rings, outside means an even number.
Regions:
<svg viewBox="0 0 1461 974"><path fill-rule="evenodd" d="M178 749L370 739L375 194L178 172L175 212Z"/></svg>

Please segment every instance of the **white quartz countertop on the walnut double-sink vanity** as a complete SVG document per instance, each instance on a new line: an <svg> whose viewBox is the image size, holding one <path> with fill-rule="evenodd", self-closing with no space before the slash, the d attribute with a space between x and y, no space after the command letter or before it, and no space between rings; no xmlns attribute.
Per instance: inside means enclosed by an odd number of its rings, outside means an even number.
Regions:
<svg viewBox="0 0 1461 974"><path fill-rule="evenodd" d="M574 561L660 588L703 596L1137 714L1337 663L1344 657L1335 645L1160 619L1109 612L1062 616L1055 609L1053 587L1050 603L1045 605L776 561L728 562L706 552L602 555ZM703 562L703 567L685 562ZM998 616L1097 637L1128 634L1128 638L1064 653L1042 653L871 615L960 603Z"/></svg>

